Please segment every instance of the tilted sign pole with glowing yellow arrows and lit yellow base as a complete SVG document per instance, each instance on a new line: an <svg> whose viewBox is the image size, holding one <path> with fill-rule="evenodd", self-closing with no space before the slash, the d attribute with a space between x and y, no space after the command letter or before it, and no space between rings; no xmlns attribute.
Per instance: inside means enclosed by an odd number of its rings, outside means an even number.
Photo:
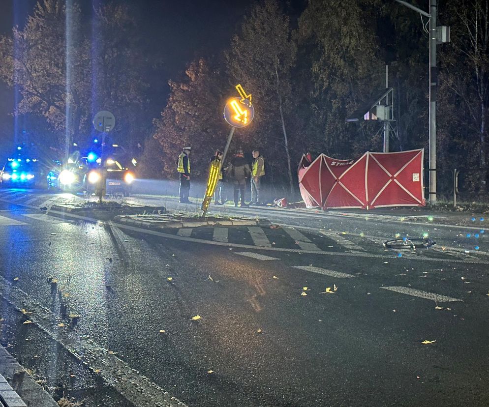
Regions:
<svg viewBox="0 0 489 407"><path fill-rule="evenodd" d="M255 116L255 108L251 104L251 93L247 94L241 84L236 85L236 90L241 97L233 97L229 99L224 106L224 120L226 120L226 122L231 125L231 130L229 131L229 136L227 138L226 146L224 147L220 162L214 160L211 163L211 167L209 169L209 177L207 181L206 194L204 197L204 201L202 201L202 205L200 207L202 210L201 217L206 216L207 211L209 210L209 205L211 204L215 187L217 186L217 182L219 181L219 174L222 170L224 160L226 159L229 145L231 145L231 140L233 139L235 129L247 126L249 123L251 123L253 117Z"/></svg>

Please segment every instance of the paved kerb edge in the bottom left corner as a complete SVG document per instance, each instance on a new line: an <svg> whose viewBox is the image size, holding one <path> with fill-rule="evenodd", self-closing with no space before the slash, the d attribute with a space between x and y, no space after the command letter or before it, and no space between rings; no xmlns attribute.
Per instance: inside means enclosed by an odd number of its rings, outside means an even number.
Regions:
<svg viewBox="0 0 489 407"><path fill-rule="evenodd" d="M0 400L6 407L59 407L58 403L2 346L0 346Z"/></svg>

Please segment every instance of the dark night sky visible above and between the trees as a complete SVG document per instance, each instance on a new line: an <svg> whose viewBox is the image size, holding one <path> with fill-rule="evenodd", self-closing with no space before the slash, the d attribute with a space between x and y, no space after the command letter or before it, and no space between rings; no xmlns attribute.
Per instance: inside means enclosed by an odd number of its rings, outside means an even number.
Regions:
<svg viewBox="0 0 489 407"><path fill-rule="evenodd" d="M0 33L10 35L14 25L22 29L36 2L0 0ZM92 5L100 3L103 1L79 1L85 18L90 18ZM154 116L158 116L165 105L168 80L177 79L192 59L211 56L227 48L245 13L254 4L253 1L229 0L137 0L129 3L136 8L134 18L141 23L144 37L153 44L151 58L160 66L156 77L149 78ZM300 14L305 3L305 0L285 2L288 11L292 10L292 20ZM0 82L0 156L13 142L14 119L11 114L14 105L14 90ZM35 125L25 117L20 117L18 124L19 128Z"/></svg>

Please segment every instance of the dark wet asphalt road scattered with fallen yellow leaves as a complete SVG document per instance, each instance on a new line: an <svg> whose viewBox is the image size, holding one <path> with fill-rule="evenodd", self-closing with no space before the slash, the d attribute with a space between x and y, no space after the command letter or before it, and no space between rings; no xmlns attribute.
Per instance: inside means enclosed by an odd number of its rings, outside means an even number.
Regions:
<svg viewBox="0 0 489 407"><path fill-rule="evenodd" d="M321 253L245 250L44 216L21 195L0 198L0 340L57 396L155 406L148 392L157 386L187 406L489 405L485 234L283 211L267 216L310 228L302 232ZM281 229L265 232L292 247ZM429 233L438 247L398 257L379 244L396 233ZM245 229L229 237L252 244ZM69 314L80 316L74 327Z"/></svg>

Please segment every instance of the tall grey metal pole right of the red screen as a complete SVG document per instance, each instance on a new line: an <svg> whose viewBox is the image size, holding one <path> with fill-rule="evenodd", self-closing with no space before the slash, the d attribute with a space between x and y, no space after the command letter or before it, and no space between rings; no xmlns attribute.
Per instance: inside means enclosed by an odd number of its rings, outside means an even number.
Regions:
<svg viewBox="0 0 489 407"><path fill-rule="evenodd" d="M429 0L429 203L436 204L436 0Z"/></svg>

